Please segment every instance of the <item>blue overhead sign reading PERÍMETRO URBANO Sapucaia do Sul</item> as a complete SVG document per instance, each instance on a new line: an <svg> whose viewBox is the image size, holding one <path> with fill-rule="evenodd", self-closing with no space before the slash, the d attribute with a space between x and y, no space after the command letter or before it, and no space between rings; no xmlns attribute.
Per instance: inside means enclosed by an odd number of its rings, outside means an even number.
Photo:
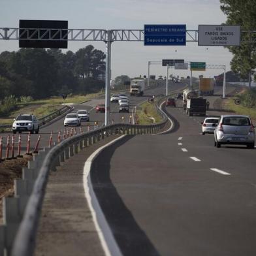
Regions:
<svg viewBox="0 0 256 256"><path fill-rule="evenodd" d="M144 25L144 45L185 45L186 25Z"/></svg>

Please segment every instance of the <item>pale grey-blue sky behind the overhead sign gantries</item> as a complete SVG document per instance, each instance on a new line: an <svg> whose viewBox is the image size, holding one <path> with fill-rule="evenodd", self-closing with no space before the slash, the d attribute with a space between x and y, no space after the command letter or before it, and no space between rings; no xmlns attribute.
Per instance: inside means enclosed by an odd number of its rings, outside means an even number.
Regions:
<svg viewBox="0 0 256 256"><path fill-rule="evenodd" d="M187 30L199 24L221 24L226 16L219 0L0 0L0 27L18 27L19 20L68 20L69 29L144 29L144 24L186 24ZM104 42L69 41L76 52L92 44L105 52ZM0 40L0 52L17 51L18 40ZM66 50L63 50L65 52ZM148 61L184 59L205 61L206 64L226 65L230 70L232 54L222 46L144 46L143 42L112 42L112 79L121 74L131 78L148 76ZM219 69L193 72L213 77ZM167 68L150 65L150 74L166 76ZM190 71L173 68L169 74L189 76Z"/></svg>

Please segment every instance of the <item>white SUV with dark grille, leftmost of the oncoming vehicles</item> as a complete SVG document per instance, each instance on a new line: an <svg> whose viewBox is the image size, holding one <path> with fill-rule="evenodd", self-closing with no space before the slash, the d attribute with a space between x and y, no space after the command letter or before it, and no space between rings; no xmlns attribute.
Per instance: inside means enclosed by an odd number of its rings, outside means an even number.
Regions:
<svg viewBox="0 0 256 256"><path fill-rule="evenodd" d="M22 133L22 131L30 131L31 133L39 133L39 121L33 114L20 114L14 118L12 123L12 133Z"/></svg>

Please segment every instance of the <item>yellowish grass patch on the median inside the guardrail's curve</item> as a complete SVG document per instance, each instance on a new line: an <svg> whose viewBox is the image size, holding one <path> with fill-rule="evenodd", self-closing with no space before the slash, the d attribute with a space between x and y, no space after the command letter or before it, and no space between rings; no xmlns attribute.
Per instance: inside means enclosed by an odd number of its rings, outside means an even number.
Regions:
<svg viewBox="0 0 256 256"><path fill-rule="evenodd" d="M136 114L138 115L138 123L140 125L152 124L153 121L150 120L150 117L155 118L155 123L162 121L161 116L157 113L155 104L148 103L148 101L138 106Z"/></svg>

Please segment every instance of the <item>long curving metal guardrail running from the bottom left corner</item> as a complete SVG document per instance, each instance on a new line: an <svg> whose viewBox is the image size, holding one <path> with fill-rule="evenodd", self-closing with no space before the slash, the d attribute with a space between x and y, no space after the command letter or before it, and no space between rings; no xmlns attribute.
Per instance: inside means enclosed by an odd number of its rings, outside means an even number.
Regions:
<svg viewBox="0 0 256 256"><path fill-rule="evenodd" d="M33 255L40 209L50 171L61 162L105 136L116 134L144 135L157 133L167 118L153 125L114 124L88 133L72 136L53 148L34 155L28 168L23 168L22 180L14 182L15 195L3 199L4 224L0 226L0 255ZM5 254L3 254L5 251ZM12 251L12 252L11 252Z"/></svg>

